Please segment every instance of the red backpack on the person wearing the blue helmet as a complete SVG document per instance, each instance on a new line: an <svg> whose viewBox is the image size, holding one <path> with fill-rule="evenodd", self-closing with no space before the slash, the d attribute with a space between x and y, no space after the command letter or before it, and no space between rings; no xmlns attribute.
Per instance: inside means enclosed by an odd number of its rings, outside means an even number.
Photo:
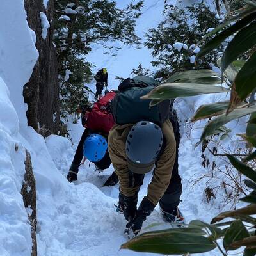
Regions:
<svg viewBox="0 0 256 256"><path fill-rule="evenodd" d="M92 111L88 113L86 127L93 132L100 132L108 135L110 129L115 124L113 115L108 111L109 100L115 97L115 92L109 92L100 98L93 105Z"/></svg>

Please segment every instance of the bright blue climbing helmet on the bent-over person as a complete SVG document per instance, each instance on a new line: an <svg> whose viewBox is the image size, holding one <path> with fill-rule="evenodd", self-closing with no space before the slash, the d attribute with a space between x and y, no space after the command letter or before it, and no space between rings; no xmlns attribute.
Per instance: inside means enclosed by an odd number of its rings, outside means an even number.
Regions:
<svg viewBox="0 0 256 256"><path fill-rule="evenodd" d="M90 134L83 145L83 154L91 162L100 161L106 154L108 142L100 134Z"/></svg>

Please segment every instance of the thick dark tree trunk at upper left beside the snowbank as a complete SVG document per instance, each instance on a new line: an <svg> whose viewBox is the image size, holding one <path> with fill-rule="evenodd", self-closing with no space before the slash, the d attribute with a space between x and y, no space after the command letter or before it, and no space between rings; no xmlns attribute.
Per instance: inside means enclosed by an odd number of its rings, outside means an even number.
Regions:
<svg viewBox="0 0 256 256"><path fill-rule="evenodd" d="M42 38L40 12L47 15L51 24L54 1L49 0L45 10L42 0L24 0L29 27L36 33L36 48L39 52L29 82L25 84L23 96L28 104L26 112L28 125L44 136L58 133L60 130L60 104L58 84L58 62L55 47L52 44L53 28L48 29L47 38ZM39 129L40 128L40 129ZM44 133L46 132L47 133Z"/></svg>

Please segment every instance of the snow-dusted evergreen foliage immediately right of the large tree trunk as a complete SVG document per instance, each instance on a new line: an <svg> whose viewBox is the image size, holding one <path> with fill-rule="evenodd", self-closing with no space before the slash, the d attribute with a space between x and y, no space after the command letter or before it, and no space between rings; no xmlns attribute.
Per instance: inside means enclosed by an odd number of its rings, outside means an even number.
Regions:
<svg viewBox="0 0 256 256"><path fill-rule="evenodd" d="M128 4L120 9L116 1L54 0L54 44L58 52L60 74L61 116L76 113L77 104L86 104L88 87L92 80L92 65L86 55L92 51L92 44L113 49L118 40L124 44L140 45L140 38L134 28L140 17L143 1ZM116 48L117 50L118 48ZM70 78L65 75L70 70Z"/></svg>

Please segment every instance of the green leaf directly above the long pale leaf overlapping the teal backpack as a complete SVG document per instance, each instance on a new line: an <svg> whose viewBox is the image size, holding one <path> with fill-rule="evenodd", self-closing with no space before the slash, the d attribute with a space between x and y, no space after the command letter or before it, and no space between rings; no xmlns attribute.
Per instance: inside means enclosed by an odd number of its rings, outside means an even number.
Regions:
<svg viewBox="0 0 256 256"><path fill-rule="evenodd" d="M213 79L213 81L219 81L219 83L221 83L220 74L209 69L177 72L166 79L164 83L180 83L180 80L183 80L182 83L184 83L184 81L190 81L189 83L193 83L192 81L198 81L200 79Z"/></svg>

